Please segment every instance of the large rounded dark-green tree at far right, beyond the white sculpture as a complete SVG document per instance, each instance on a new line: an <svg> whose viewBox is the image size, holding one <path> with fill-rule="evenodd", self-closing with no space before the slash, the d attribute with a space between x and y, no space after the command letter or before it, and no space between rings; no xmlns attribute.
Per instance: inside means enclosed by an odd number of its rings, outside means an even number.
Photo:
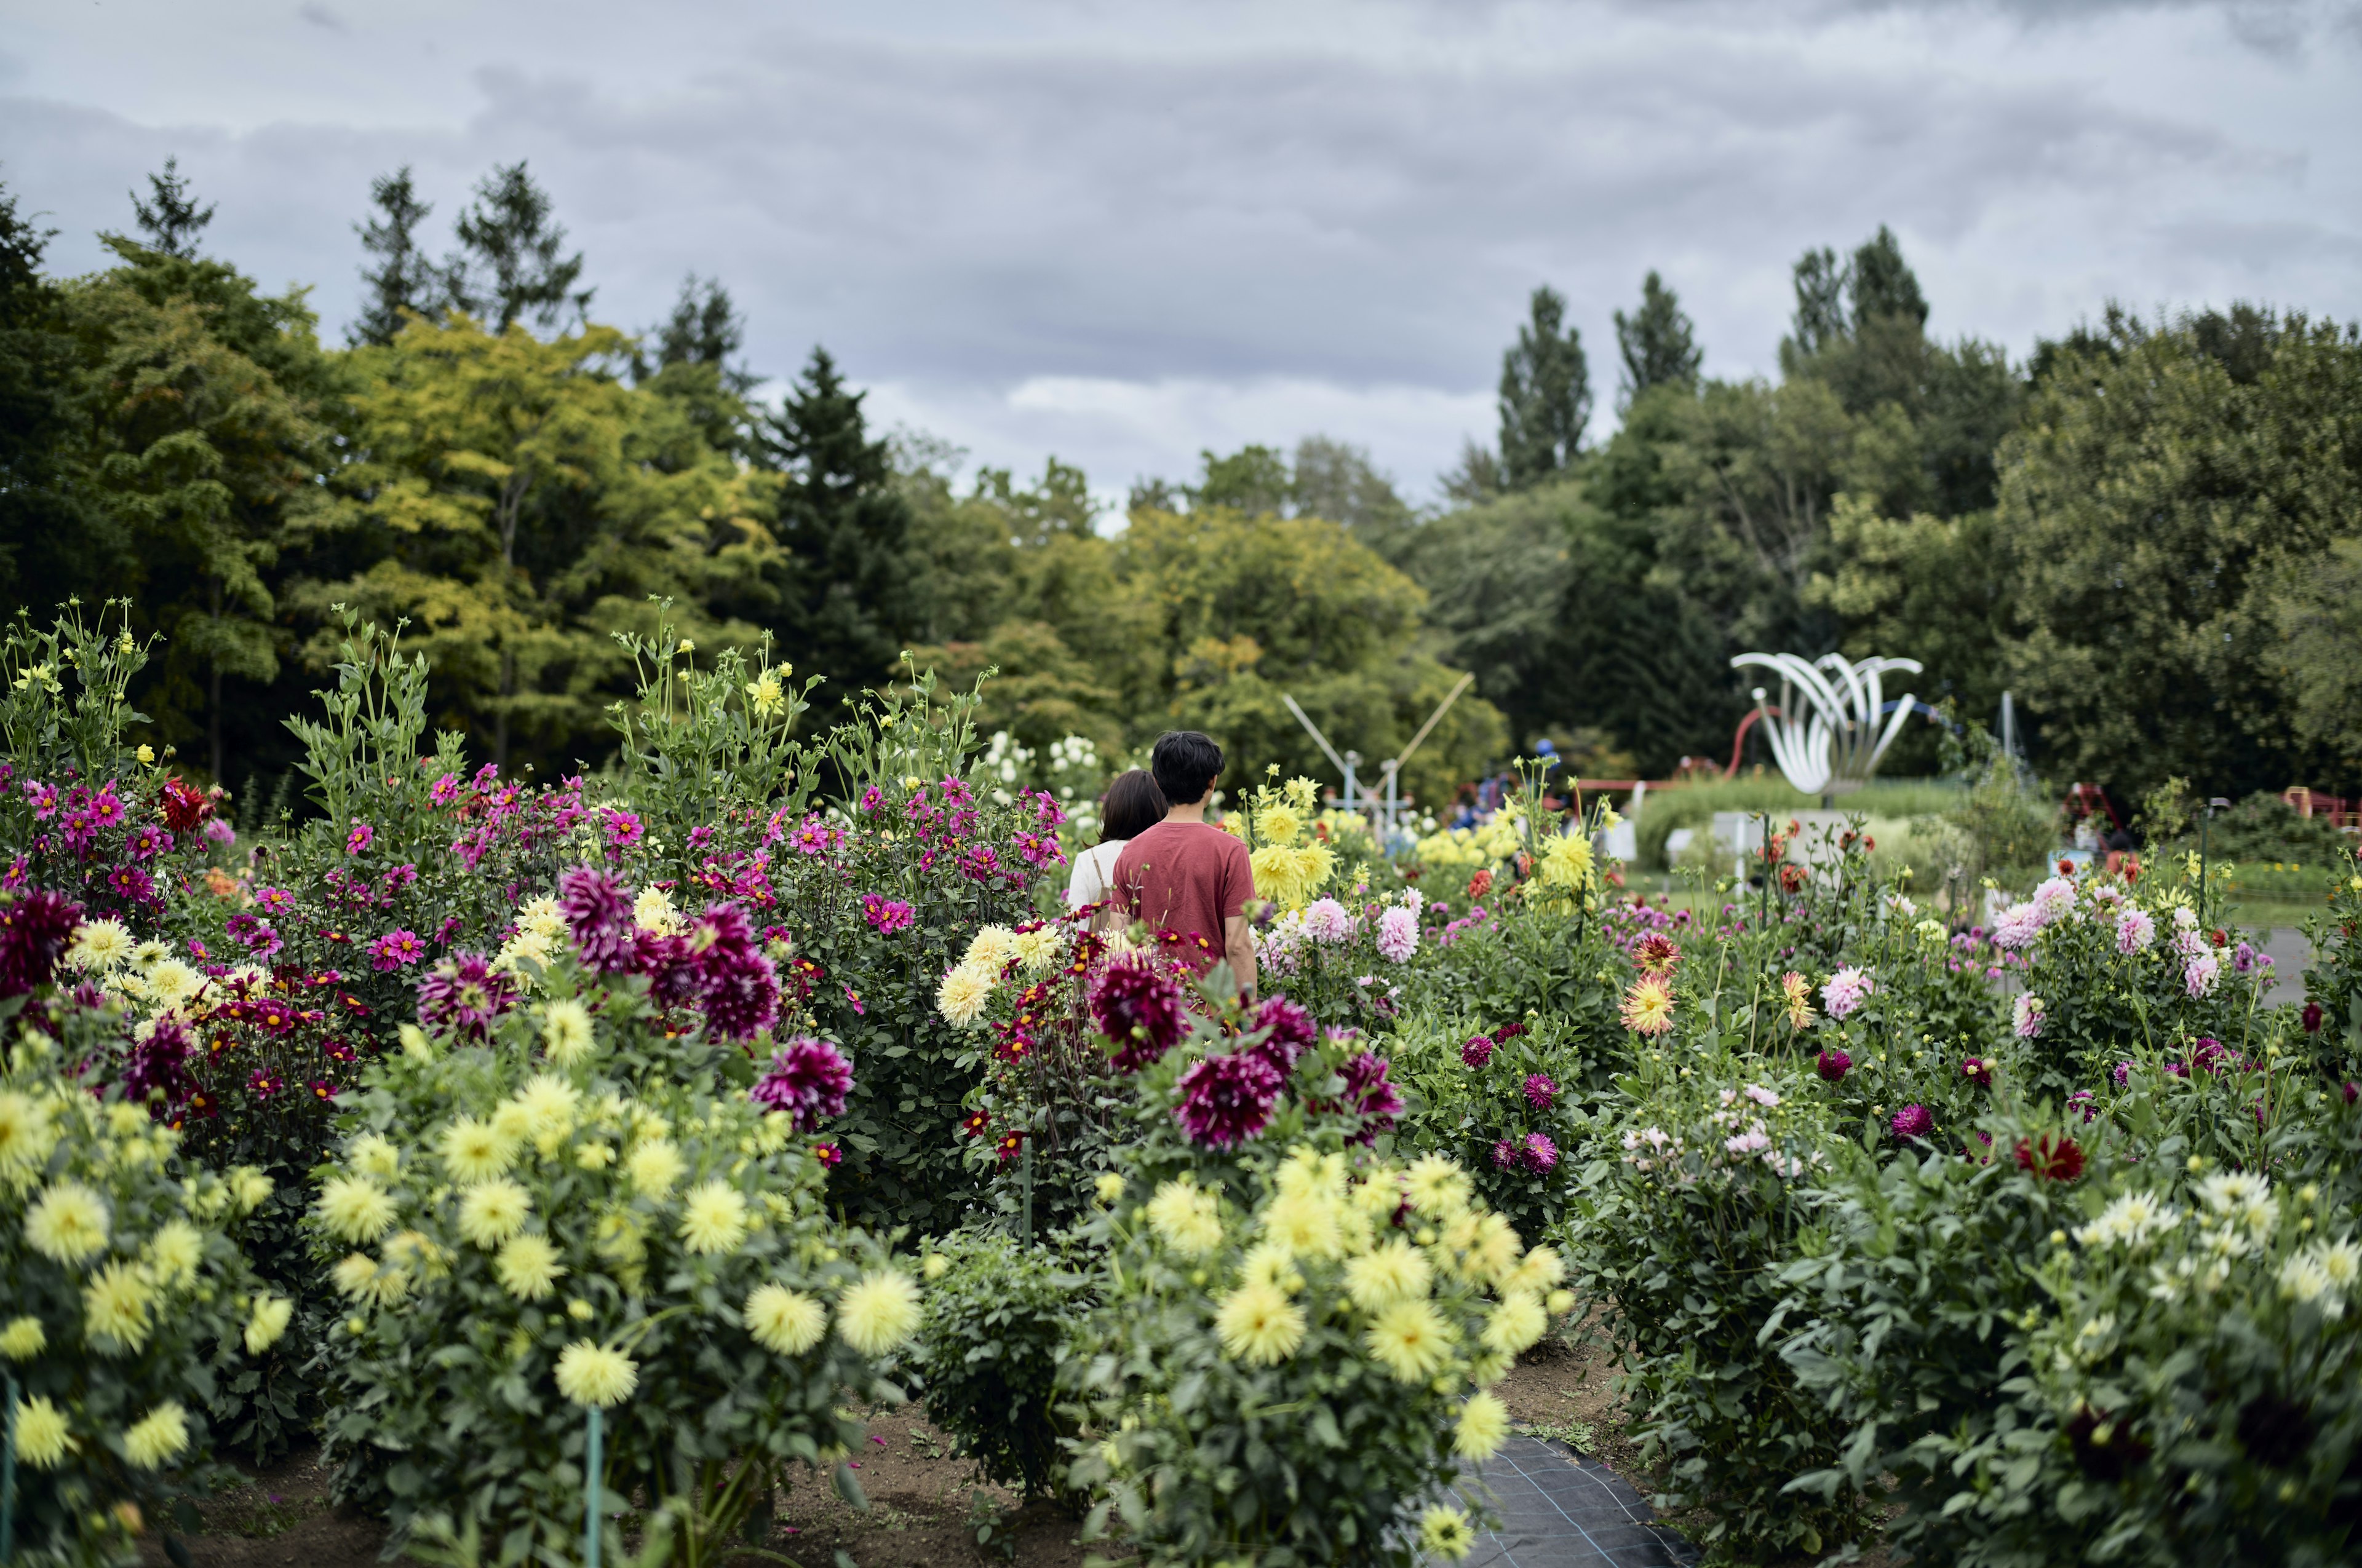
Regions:
<svg viewBox="0 0 2362 1568"><path fill-rule="evenodd" d="M2362 340L2249 316L2109 312L2003 442L2010 680L2071 777L2140 793L2201 765L2201 793L2239 796L2338 763L2317 697L2294 723L2284 682L2319 687L2289 664L2282 607L2301 619L2291 581L2362 534Z"/></svg>

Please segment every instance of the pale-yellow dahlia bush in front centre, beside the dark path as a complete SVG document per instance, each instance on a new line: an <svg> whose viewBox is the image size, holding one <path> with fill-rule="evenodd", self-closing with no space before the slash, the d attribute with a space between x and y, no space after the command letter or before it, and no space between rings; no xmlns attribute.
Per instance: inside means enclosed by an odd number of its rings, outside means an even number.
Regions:
<svg viewBox="0 0 2362 1568"><path fill-rule="evenodd" d="M1221 1058L1209 1058L1221 1060ZM1448 1159L1337 1126L1249 1136L1238 1176L1110 1176L1105 1304L1070 1476L1150 1563L1467 1556L1446 1488L1509 1431L1495 1384L1540 1339L1559 1259Z"/></svg>

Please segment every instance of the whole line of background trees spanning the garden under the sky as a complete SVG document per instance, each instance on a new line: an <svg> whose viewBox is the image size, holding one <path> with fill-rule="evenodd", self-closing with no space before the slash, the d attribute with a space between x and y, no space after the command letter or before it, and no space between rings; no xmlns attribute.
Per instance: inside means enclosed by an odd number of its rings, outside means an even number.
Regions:
<svg viewBox="0 0 2362 1568"><path fill-rule="evenodd" d="M1748 647L1911 654L1975 718L2015 690L2041 763L2121 793L2362 765L2350 326L2107 309L2012 364L1927 333L1880 229L1795 264L1776 380L1703 375L1649 274L1592 442L1583 338L1540 288L1498 442L1441 503L1309 437L1138 479L1108 527L1056 458L954 482L959 453L876 432L824 349L758 399L720 281L645 331L595 321L524 163L439 260L409 170L371 196L361 314L324 345L302 290L203 250L172 163L73 279L0 191L0 595L130 597L165 638L154 737L248 796L283 789L333 605L409 619L477 753L572 770L612 753L614 633L652 600L829 701L997 668L987 723L1023 744L1193 725L1254 772L1325 772L1283 694L1379 758L1472 671L1410 767L1429 801L1542 737L1592 775L1727 753Z"/></svg>

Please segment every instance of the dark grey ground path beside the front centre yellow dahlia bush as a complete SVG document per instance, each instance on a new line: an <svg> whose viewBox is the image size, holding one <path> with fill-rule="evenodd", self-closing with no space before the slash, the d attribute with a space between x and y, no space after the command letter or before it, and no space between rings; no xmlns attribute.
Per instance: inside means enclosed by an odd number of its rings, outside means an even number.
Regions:
<svg viewBox="0 0 2362 1568"><path fill-rule="evenodd" d="M1698 1551L1656 1523L1649 1500L1606 1464L1559 1443L1509 1438L1486 1459L1500 1528L1467 1568L1689 1568Z"/></svg>

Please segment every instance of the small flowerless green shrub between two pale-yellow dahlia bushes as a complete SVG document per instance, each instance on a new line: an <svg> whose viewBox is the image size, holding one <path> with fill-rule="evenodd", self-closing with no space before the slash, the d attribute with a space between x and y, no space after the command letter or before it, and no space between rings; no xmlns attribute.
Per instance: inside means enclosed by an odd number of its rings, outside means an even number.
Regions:
<svg viewBox="0 0 2362 1568"><path fill-rule="evenodd" d="M954 1230L926 1254L926 1320L912 1367L926 1415L954 1450L999 1485L1030 1497L1061 1490L1058 1360L1070 1325L1094 1304L1091 1280L1049 1247L1004 1230Z"/></svg>

